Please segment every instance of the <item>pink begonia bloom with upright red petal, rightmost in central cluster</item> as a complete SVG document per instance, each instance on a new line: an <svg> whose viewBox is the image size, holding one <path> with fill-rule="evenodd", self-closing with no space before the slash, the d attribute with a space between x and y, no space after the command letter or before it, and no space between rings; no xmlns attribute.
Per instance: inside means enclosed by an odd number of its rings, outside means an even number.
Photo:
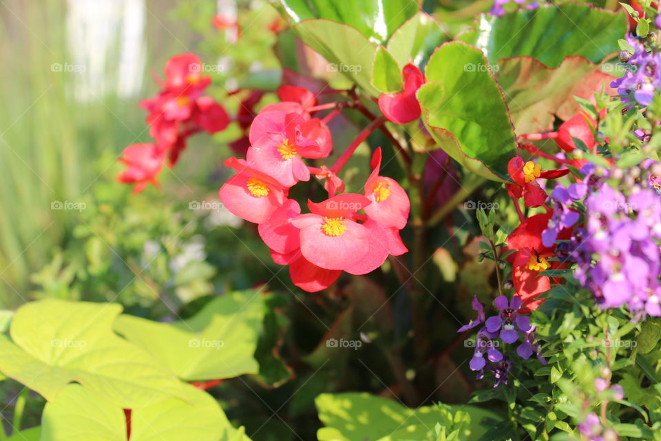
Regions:
<svg viewBox="0 0 661 441"><path fill-rule="evenodd" d="M371 202L365 207L365 213L384 227L406 227L410 201L397 181L379 176L381 147L377 148L372 156L372 168L372 174L365 183L365 196Z"/></svg>

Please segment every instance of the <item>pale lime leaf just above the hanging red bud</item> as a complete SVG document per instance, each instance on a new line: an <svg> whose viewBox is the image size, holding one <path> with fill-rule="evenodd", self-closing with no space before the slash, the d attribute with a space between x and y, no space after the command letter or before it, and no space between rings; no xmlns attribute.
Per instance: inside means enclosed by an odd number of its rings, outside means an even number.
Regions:
<svg viewBox="0 0 661 441"><path fill-rule="evenodd" d="M386 47L401 69L407 63L420 65L445 40L441 25L420 11L392 34Z"/></svg>

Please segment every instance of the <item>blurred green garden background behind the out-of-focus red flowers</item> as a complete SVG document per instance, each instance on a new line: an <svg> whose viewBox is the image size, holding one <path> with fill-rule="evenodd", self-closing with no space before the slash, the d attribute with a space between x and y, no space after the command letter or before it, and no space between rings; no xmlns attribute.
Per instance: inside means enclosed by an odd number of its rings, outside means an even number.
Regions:
<svg viewBox="0 0 661 441"><path fill-rule="evenodd" d="M220 3L248 28L275 19L265 1ZM224 253L254 239L216 206L189 205L218 201L216 170L238 129L192 139L162 173L162 189L138 196L114 181L116 160L149 142L138 103L158 92L153 75L169 57L196 52L209 63L209 94L233 113L238 99L226 87L277 66L273 34L244 32L233 43L211 25L214 0L5 0L0 11L0 309L44 296L145 306L155 296L180 304L211 294L200 280L233 274L243 252ZM207 249L210 240L219 246Z"/></svg>

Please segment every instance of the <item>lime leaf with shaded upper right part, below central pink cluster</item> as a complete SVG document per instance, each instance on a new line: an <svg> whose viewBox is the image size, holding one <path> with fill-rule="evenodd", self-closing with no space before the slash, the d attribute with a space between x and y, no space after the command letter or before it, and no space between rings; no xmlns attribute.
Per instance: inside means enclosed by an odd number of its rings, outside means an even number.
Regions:
<svg viewBox="0 0 661 441"><path fill-rule="evenodd" d="M149 351L182 380L258 373L254 358L264 319L259 291L214 298L193 318L161 323L123 315L115 329Z"/></svg>

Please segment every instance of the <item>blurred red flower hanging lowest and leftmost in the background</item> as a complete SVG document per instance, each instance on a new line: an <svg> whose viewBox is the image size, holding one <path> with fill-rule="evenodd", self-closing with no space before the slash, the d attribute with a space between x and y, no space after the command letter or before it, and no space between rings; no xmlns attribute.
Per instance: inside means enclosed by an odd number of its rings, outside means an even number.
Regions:
<svg viewBox="0 0 661 441"><path fill-rule="evenodd" d="M119 161L128 167L117 176L117 181L136 184L134 193L142 192L150 182L158 186L156 176L163 166L164 158L154 144L129 145Z"/></svg>

